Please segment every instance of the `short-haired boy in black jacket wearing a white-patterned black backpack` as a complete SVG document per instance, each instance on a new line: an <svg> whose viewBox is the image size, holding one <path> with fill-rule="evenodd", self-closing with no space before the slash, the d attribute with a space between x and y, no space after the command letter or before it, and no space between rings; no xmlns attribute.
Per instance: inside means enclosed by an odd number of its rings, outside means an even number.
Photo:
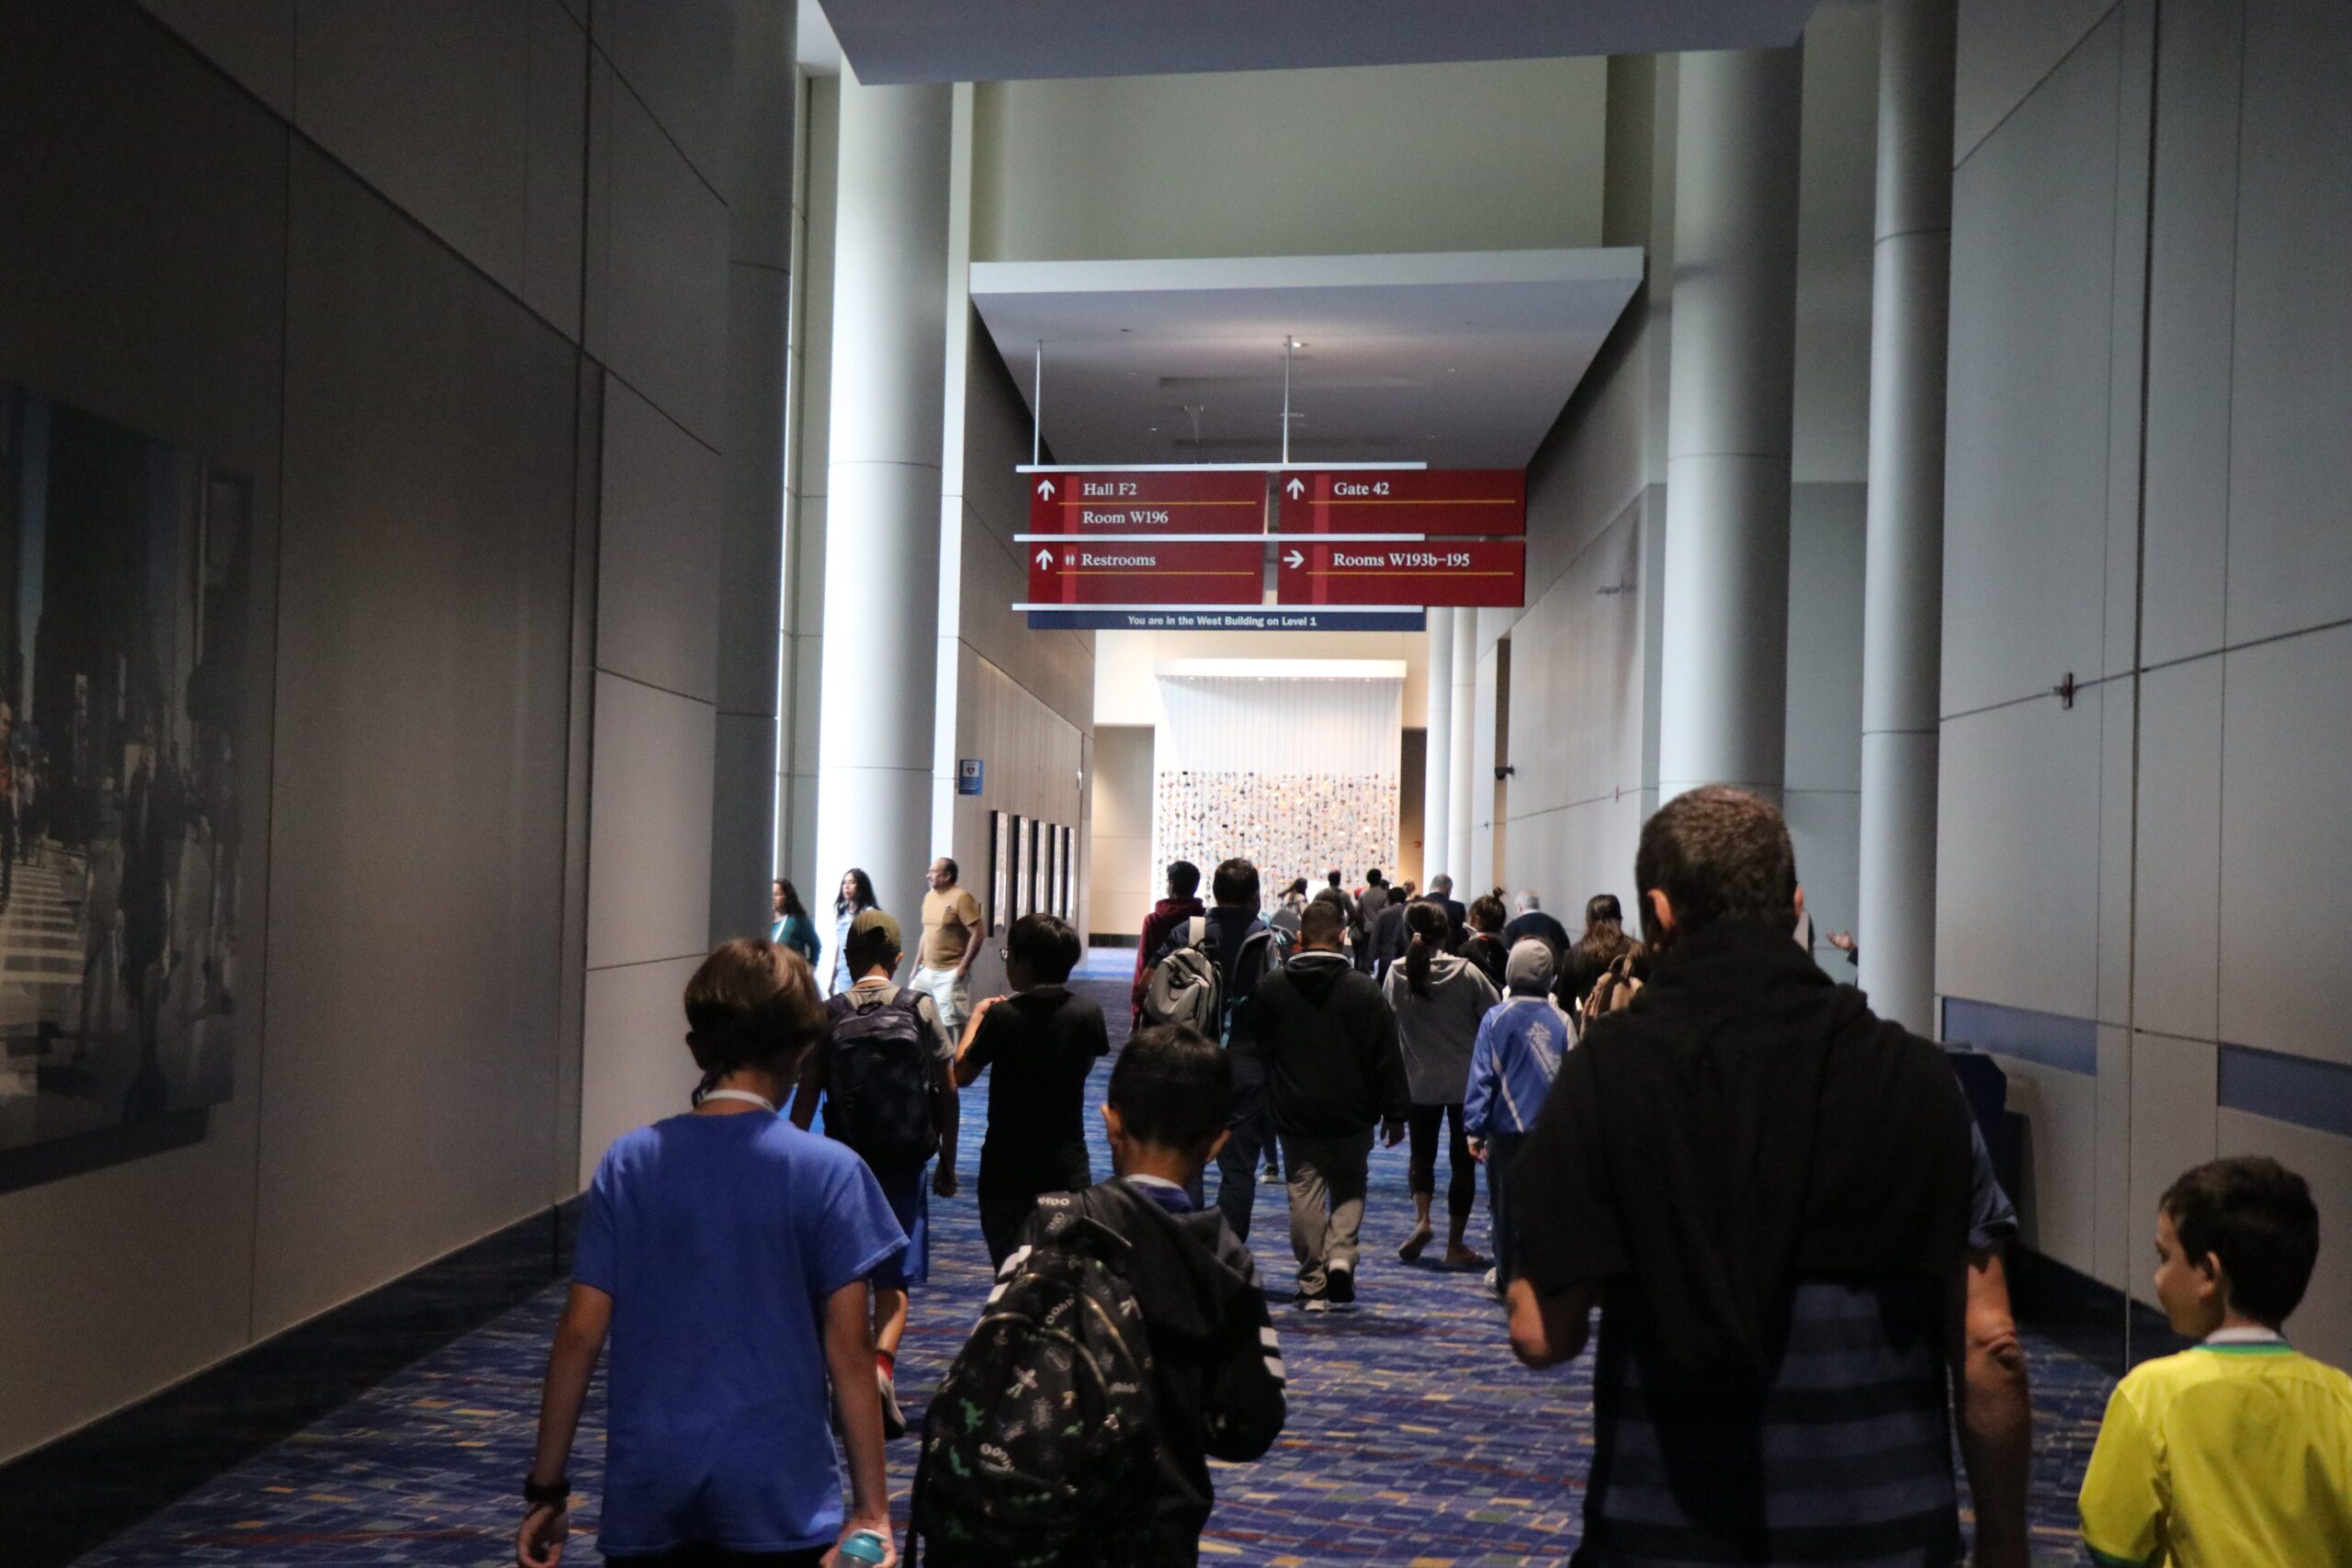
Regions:
<svg viewBox="0 0 2352 1568"><path fill-rule="evenodd" d="M1195 1568L1209 1460L1282 1434L1282 1345L1256 1265L1185 1194L1225 1143L1232 1063L1181 1027L1110 1072L1117 1175L1037 1199L922 1427L929 1568Z"/></svg>

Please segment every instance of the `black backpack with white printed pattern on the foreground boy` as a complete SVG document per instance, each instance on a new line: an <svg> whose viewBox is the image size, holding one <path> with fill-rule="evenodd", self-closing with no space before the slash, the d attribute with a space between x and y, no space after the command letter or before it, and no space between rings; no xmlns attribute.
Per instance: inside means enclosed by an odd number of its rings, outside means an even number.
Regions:
<svg viewBox="0 0 2352 1568"><path fill-rule="evenodd" d="M913 1535L936 1568L1136 1568L1160 1434L1127 1241L1075 1194L1004 1260L922 1422Z"/></svg>

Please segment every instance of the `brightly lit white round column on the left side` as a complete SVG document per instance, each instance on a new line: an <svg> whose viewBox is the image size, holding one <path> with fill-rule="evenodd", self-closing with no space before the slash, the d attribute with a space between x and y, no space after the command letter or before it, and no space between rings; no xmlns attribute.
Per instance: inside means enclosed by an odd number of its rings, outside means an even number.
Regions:
<svg viewBox="0 0 2352 1568"><path fill-rule="evenodd" d="M931 858L953 87L842 68L816 898L863 867L901 922Z"/></svg>

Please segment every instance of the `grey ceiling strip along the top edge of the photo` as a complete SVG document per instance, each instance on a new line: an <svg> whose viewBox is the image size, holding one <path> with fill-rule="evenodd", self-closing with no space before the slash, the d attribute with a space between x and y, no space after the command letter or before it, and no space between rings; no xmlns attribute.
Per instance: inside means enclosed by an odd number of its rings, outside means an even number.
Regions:
<svg viewBox="0 0 2352 1568"><path fill-rule="evenodd" d="M1289 71L1795 42L1813 0L823 0L858 80Z"/></svg>

